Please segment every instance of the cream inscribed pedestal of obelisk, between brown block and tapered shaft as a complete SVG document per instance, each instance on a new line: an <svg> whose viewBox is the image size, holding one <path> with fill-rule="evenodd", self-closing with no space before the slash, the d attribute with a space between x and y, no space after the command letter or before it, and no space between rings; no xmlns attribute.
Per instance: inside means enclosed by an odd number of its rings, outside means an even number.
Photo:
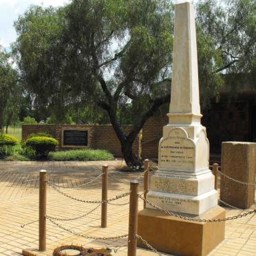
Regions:
<svg viewBox="0 0 256 256"><path fill-rule="evenodd" d="M214 176L209 170L209 142L202 125L165 126L158 161L159 170L151 178L147 194L150 202L195 215L217 205Z"/></svg>

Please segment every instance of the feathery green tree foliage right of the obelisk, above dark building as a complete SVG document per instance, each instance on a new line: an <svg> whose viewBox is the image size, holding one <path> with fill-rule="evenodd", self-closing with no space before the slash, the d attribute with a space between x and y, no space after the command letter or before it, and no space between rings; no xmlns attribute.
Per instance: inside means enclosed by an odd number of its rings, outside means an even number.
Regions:
<svg viewBox="0 0 256 256"><path fill-rule="evenodd" d="M217 89L213 76L220 86L231 84L233 92L256 77L256 2L220 2L200 0L197 4L200 89L205 91L202 95ZM215 62L209 56L215 56ZM204 103L209 103L206 99Z"/></svg>

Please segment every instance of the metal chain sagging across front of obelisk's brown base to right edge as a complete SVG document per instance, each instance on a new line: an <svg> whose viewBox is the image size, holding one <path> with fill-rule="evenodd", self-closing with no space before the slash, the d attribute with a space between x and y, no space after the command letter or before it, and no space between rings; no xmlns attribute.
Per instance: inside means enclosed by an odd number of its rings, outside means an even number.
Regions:
<svg viewBox="0 0 256 256"><path fill-rule="evenodd" d="M196 218L193 218L193 217L184 217L182 215L178 215L177 213L173 213L171 211L167 211L167 210L164 210L162 209L161 207L157 206L157 205L154 205L152 204L151 202L149 202L149 200L143 198L141 195L138 194L138 197L142 200L144 200L147 204L151 205L153 208L155 209L158 209L159 211L162 211L164 213L167 213L168 215L171 215L171 216L174 216L174 217L178 217L179 219L183 219L183 220L191 220L193 222L226 222L227 220L236 220L240 217L245 217L247 215L250 215L250 214L253 214L253 213L256 213L256 209L252 210L252 211L248 211L246 213L242 213L242 214L239 214L239 215L235 215L235 216L232 216L232 217L225 217L223 219L217 219L217 220L200 220L200 219L196 219Z"/></svg>

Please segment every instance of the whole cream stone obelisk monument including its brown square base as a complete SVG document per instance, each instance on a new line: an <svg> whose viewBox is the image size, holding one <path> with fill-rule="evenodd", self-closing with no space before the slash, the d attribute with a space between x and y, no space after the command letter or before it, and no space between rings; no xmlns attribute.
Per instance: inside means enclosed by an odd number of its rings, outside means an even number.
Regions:
<svg viewBox="0 0 256 256"><path fill-rule="evenodd" d="M169 124L159 142L158 171L147 200L162 209L198 219L219 219L209 141L201 125L198 54L193 5L175 5L173 77ZM214 234L214 235L213 235ZM206 255L224 239L224 222L192 222L147 205L138 215L138 235L153 247L178 255ZM142 245L139 242L140 245Z"/></svg>

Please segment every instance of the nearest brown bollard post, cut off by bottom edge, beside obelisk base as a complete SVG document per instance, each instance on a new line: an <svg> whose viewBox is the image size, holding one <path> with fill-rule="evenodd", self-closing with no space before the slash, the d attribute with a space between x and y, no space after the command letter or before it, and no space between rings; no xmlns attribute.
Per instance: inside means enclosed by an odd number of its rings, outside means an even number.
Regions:
<svg viewBox="0 0 256 256"><path fill-rule="evenodd" d="M138 181L130 183L128 256L136 256L138 228Z"/></svg>

